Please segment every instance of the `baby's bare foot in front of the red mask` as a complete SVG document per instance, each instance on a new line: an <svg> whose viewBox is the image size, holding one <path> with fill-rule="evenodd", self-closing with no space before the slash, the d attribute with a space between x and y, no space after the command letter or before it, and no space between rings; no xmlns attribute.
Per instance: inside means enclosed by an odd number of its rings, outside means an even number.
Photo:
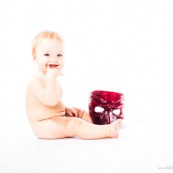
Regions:
<svg viewBox="0 0 173 173"><path fill-rule="evenodd" d="M117 119L112 124L108 125L108 137L118 138L118 130L121 126L122 119Z"/></svg>

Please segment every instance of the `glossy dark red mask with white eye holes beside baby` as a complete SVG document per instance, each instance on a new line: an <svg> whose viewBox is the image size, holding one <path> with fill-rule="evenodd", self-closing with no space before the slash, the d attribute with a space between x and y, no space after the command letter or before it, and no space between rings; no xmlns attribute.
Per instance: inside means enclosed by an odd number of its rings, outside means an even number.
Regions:
<svg viewBox="0 0 173 173"><path fill-rule="evenodd" d="M94 124L104 125L123 119L124 95L111 91L93 91L90 94L89 113Z"/></svg>

